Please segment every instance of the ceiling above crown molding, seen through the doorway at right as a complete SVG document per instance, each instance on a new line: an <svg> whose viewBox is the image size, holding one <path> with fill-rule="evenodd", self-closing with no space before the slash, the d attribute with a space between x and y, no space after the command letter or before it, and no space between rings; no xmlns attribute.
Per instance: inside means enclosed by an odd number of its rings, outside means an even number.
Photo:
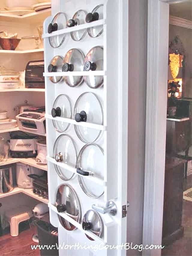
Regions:
<svg viewBox="0 0 192 256"><path fill-rule="evenodd" d="M186 20L192 20L192 1L189 0L170 5L169 14Z"/></svg>

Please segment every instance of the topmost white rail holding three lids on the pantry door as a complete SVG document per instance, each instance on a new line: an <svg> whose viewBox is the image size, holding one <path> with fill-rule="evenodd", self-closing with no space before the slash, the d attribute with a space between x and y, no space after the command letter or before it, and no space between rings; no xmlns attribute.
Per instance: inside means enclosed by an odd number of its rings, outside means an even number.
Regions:
<svg viewBox="0 0 192 256"><path fill-rule="evenodd" d="M57 35L64 35L64 34L68 34L70 32L79 31L81 29L88 29L88 28L92 28L92 27L98 27L98 26L101 26L101 25L104 25L104 24L105 24L104 19L96 20L96 21L93 21L91 23L84 23L84 24L74 26L74 27L71 27L71 28L60 29L60 30L54 31L50 34L46 33L46 34L43 35L43 38L49 38L49 37L57 36Z"/></svg>

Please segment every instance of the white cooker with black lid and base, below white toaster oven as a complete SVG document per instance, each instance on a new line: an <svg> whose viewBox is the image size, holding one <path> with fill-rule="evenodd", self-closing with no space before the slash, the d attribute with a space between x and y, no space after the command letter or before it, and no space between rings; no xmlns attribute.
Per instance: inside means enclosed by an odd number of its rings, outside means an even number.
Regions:
<svg viewBox="0 0 192 256"><path fill-rule="evenodd" d="M10 155L13 158L29 158L37 155L37 136L22 131L10 132Z"/></svg>

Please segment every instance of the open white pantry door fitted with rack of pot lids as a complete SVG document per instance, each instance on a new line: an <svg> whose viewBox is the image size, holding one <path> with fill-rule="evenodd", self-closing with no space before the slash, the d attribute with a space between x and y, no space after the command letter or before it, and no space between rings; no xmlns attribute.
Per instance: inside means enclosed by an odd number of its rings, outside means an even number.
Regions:
<svg viewBox="0 0 192 256"><path fill-rule="evenodd" d="M67 27L65 19L76 22L73 15L79 10L80 25ZM98 20L82 22L83 12L97 11ZM59 12L65 13L60 16L63 20L53 21ZM58 30L48 33L50 23ZM97 37L89 35L99 30ZM85 35L75 41L74 32ZM83 56L89 53L85 60L90 60L91 71L76 65L76 57L69 58L74 49ZM67 72L61 69L62 59ZM52 0L52 16L44 22L44 60L49 213L51 223L58 227L59 245L66 245L59 255L125 256L121 245L127 233L128 1ZM69 86L77 82L77 76L83 77L80 85ZM60 77L57 82L55 77ZM101 86L91 87L102 78ZM93 176L85 176L86 171ZM110 202L116 206L114 215ZM74 245L78 244L92 247L77 249ZM99 245L102 250L97 249ZM108 245L115 248L107 249Z"/></svg>

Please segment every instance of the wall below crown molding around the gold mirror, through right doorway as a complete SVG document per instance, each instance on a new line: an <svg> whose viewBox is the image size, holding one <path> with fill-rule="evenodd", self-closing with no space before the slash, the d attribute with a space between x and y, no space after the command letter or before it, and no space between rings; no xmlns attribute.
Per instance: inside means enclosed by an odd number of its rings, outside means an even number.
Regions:
<svg viewBox="0 0 192 256"><path fill-rule="evenodd" d="M182 40L185 49L185 89L184 97L192 98L192 29L170 25L169 26L169 41L171 42L178 35Z"/></svg>

